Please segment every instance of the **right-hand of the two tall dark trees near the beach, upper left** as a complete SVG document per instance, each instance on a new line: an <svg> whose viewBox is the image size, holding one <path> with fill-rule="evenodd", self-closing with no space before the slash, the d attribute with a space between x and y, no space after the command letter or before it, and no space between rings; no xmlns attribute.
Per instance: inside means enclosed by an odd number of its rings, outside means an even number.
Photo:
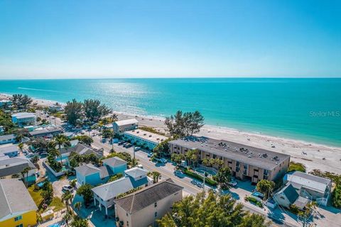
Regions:
<svg viewBox="0 0 341 227"><path fill-rule="evenodd" d="M106 116L112 109L109 109L106 105L101 104L101 101L97 99L85 99L83 102L85 116L90 120L97 122L102 116Z"/></svg>

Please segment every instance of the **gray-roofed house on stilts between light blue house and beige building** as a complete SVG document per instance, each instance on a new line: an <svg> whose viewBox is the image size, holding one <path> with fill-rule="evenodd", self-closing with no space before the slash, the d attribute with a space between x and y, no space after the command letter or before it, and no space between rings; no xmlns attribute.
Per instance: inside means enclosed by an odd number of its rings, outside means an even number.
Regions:
<svg viewBox="0 0 341 227"><path fill-rule="evenodd" d="M141 168L136 170L136 168L124 171L125 177L94 187L92 189L92 192L94 192L94 205L96 206L98 202L101 211L102 206L104 206L105 214L108 215L108 209L114 205L115 199L117 199L119 194L151 184L152 179L147 177L148 171Z"/></svg>

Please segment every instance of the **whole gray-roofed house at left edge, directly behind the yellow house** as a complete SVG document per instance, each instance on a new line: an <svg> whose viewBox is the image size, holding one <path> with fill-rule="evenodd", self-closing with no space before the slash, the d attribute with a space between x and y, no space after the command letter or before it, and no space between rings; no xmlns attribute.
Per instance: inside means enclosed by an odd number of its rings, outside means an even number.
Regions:
<svg viewBox="0 0 341 227"><path fill-rule="evenodd" d="M6 155L0 157L0 178L22 177L21 172L25 168L31 169L25 176L26 182L33 184L36 182L36 166L28 158Z"/></svg>

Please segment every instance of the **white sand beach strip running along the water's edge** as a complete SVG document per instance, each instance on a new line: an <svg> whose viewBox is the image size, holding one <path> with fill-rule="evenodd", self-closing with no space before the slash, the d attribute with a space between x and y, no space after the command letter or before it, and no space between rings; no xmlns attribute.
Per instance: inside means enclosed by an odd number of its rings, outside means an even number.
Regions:
<svg viewBox="0 0 341 227"><path fill-rule="evenodd" d="M9 99L9 95L0 94L0 99ZM55 101L43 99L33 99L33 103L40 106L50 106ZM140 126L156 128L161 132L166 132L164 118L156 116L138 116L136 114L126 114L115 112L119 115L119 120L126 118L136 118ZM303 140L293 140L280 138L271 135L248 133L232 128L205 125L198 135L212 137L216 139L231 140L235 143L251 145L257 148L273 150L278 153L291 155L291 160L302 162L307 170L319 169L323 171L341 174L341 148L332 147L318 143L305 142Z"/></svg>

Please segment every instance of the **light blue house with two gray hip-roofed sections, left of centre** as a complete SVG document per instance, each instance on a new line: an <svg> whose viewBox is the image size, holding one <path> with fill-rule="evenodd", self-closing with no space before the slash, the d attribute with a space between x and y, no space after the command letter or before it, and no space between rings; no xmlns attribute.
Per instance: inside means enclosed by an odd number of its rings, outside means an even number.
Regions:
<svg viewBox="0 0 341 227"><path fill-rule="evenodd" d="M103 160L103 166L101 167L95 167L90 163L75 167L75 170L78 186L82 184L97 186L98 184L107 183L108 179L113 175L124 174L126 161L121 160L119 157L111 157Z"/></svg>

